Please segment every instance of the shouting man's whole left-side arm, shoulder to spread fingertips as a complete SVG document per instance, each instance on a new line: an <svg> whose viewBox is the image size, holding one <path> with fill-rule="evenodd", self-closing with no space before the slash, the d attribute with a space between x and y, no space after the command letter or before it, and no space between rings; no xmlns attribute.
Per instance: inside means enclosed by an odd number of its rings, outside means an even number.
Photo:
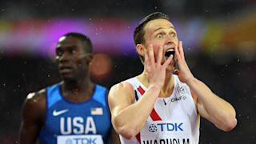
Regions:
<svg viewBox="0 0 256 144"><path fill-rule="evenodd" d="M166 66L172 57L161 64L162 48L159 49L158 60L154 60L153 47L149 48L149 56L145 53L146 77L149 87L145 94L134 103L134 88L127 82L122 82L110 89L109 105L112 123L115 130L125 138L132 138L142 129L146 119L154 107L154 102L160 94L165 76Z"/></svg>

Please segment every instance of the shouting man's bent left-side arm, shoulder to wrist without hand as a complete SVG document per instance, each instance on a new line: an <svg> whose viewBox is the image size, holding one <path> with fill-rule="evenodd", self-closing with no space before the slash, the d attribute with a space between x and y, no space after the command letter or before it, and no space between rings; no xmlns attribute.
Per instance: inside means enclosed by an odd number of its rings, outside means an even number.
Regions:
<svg viewBox="0 0 256 144"><path fill-rule="evenodd" d="M129 83L122 82L113 86L109 94L109 104L115 130L128 139L138 134L159 93L160 88L150 86L138 102L134 103L134 89Z"/></svg>

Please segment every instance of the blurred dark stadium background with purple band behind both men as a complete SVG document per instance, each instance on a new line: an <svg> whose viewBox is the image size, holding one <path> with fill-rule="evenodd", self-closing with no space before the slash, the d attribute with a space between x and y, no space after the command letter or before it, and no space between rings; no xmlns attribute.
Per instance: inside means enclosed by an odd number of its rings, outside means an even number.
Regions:
<svg viewBox="0 0 256 144"><path fill-rule="evenodd" d="M17 142L26 95L60 80L54 47L62 34L91 38L91 78L110 88L142 72L132 34L154 11L169 14L194 76L236 109L228 133L202 118L200 144L256 143L255 0L2 0L0 142Z"/></svg>

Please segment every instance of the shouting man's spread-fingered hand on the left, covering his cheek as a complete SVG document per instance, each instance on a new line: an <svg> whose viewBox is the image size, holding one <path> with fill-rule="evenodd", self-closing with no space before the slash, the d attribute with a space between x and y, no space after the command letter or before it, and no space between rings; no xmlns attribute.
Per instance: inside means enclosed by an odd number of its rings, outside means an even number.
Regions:
<svg viewBox="0 0 256 144"><path fill-rule="evenodd" d="M156 85L162 88L166 78L166 67L170 64L173 59L173 55L167 58L166 62L162 64L163 50L162 46L158 49L158 58L154 58L153 46L150 45L145 53L145 70L146 78L149 86Z"/></svg>

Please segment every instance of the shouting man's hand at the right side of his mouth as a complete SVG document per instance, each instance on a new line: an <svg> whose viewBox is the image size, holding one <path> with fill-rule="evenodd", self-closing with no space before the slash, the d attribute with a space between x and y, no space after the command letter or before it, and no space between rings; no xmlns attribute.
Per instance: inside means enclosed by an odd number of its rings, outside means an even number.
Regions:
<svg viewBox="0 0 256 144"><path fill-rule="evenodd" d="M182 41L178 42L178 46L175 46L175 60L178 62L179 70L174 70L174 74L178 75L181 82L188 84L190 80L194 79L193 74L190 71L189 66L187 66L184 52L182 48Z"/></svg>

